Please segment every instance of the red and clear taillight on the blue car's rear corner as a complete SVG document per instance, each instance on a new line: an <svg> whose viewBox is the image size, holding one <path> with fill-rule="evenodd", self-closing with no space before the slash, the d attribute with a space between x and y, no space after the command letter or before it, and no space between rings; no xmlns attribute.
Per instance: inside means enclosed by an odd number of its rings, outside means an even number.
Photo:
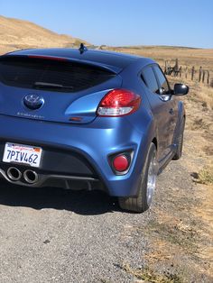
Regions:
<svg viewBox="0 0 213 283"><path fill-rule="evenodd" d="M141 96L126 89L109 91L97 107L97 115L117 117L134 113L141 104Z"/></svg>

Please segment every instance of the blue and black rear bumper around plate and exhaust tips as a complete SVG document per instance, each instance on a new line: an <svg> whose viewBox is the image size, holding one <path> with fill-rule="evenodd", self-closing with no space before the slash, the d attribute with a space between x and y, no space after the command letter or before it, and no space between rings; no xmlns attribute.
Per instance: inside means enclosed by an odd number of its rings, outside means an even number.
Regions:
<svg viewBox="0 0 213 283"><path fill-rule="evenodd" d="M15 182L17 185L96 188L106 190L110 196L137 195L149 142L147 134L136 131L128 119L97 118L93 123L76 125L0 115L0 129L1 160L5 142L40 146L44 152L41 168L33 169L39 174L39 181L29 185L20 179ZM134 156L128 173L116 176L107 157L122 151L134 151ZM0 175L7 180L9 166L22 173L32 169L0 161Z"/></svg>

